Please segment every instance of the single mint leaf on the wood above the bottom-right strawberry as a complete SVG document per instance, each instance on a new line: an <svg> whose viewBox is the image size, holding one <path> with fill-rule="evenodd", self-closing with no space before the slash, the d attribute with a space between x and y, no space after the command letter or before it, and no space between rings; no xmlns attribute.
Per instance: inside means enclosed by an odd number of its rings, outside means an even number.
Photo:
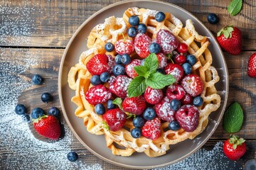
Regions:
<svg viewBox="0 0 256 170"><path fill-rule="evenodd" d="M242 127L243 112L240 104L231 104L224 113L223 126L226 132L238 132Z"/></svg>

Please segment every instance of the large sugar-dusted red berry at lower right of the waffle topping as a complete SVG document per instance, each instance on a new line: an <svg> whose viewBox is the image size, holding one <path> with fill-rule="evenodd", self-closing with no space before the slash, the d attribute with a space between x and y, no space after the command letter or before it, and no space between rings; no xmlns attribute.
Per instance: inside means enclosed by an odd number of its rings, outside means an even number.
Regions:
<svg viewBox="0 0 256 170"><path fill-rule="evenodd" d="M176 111L176 120L181 128L186 132L193 132L196 130L199 123L198 108L191 105L184 105Z"/></svg>

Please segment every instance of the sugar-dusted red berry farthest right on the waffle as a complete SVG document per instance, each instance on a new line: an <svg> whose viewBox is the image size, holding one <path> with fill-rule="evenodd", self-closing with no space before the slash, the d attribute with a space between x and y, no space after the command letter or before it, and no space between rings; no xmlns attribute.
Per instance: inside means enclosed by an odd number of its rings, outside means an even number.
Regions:
<svg viewBox="0 0 256 170"><path fill-rule="evenodd" d="M181 86L192 97L198 96L203 91L203 81L196 74L189 74L181 80Z"/></svg>

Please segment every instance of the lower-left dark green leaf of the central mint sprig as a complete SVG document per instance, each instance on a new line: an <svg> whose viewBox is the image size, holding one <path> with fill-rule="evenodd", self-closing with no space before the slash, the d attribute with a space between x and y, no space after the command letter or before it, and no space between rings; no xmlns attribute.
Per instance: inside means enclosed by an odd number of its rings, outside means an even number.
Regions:
<svg viewBox="0 0 256 170"><path fill-rule="evenodd" d="M128 97L140 96L145 90L145 78L142 76L135 77L128 86Z"/></svg>

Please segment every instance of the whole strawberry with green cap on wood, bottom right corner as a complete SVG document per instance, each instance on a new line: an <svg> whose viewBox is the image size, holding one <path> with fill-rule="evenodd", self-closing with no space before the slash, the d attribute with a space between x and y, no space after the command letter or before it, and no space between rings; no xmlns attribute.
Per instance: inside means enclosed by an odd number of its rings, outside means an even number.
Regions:
<svg viewBox="0 0 256 170"><path fill-rule="evenodd" d="M232 135L228 140L224 142L223 152L228 159L233 161L240 159L246 152L245 140Z"/></svg>

